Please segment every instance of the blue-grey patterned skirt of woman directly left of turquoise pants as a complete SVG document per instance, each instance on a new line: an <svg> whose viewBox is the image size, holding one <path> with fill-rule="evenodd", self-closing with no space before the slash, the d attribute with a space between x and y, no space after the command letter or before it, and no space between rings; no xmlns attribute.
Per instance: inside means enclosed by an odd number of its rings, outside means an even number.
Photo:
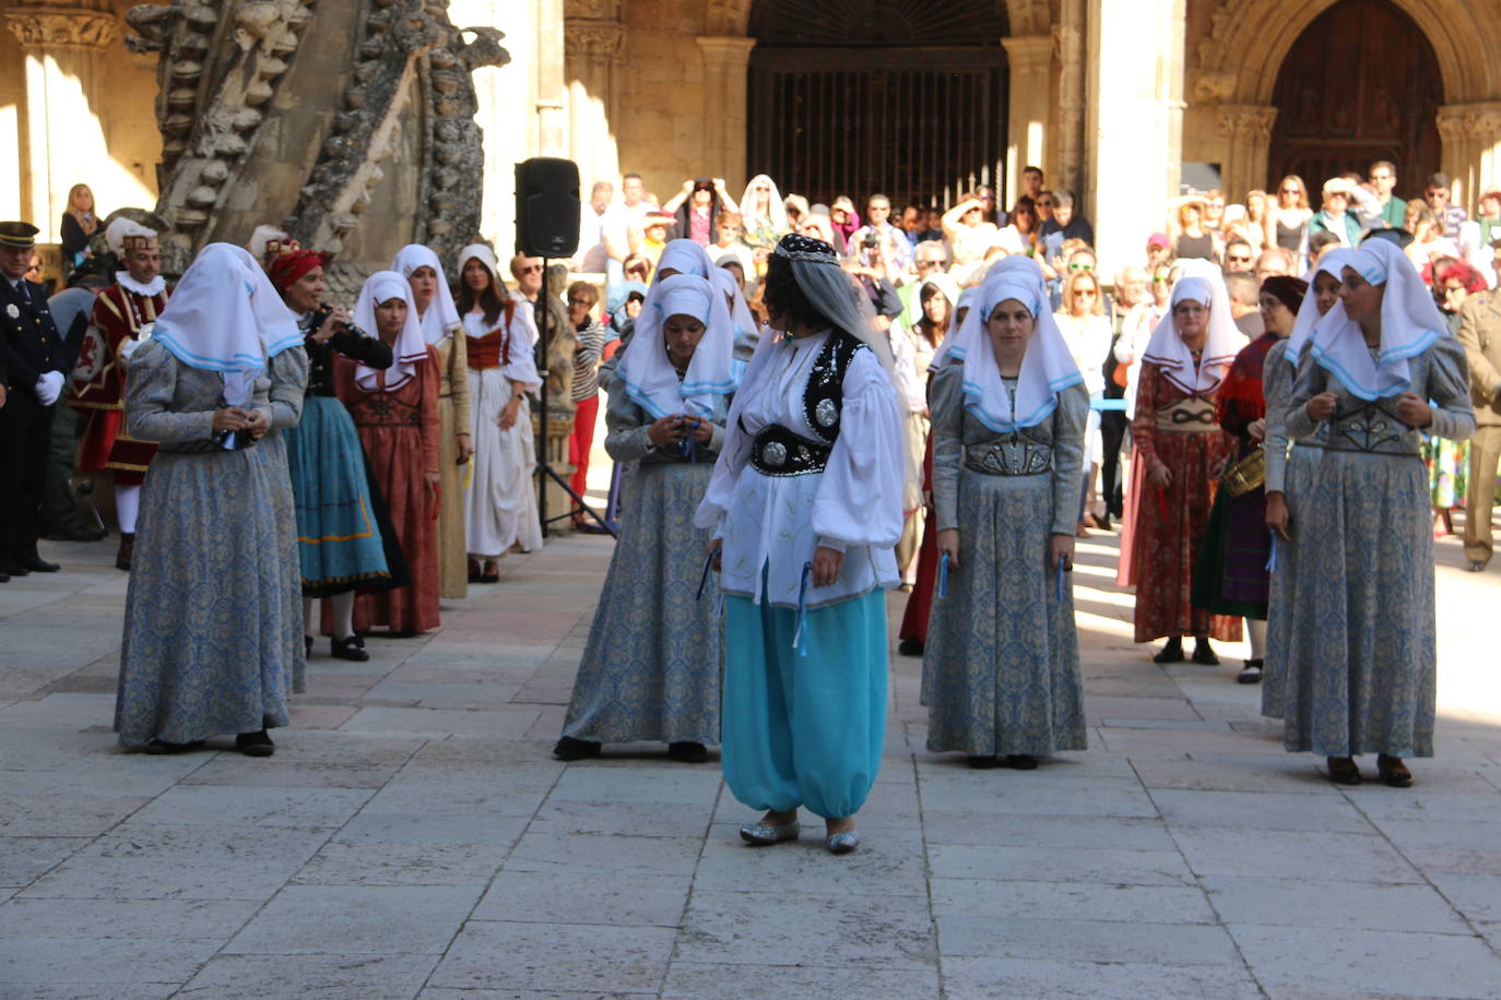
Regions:
<svg viewBox="0 0 1501 1000"><path fill-rule="evenodd" d="M719 742L719 588L698 595L710 532L693 526L711 463L644 463L573 681L563 733L600 744Z"/></svg>

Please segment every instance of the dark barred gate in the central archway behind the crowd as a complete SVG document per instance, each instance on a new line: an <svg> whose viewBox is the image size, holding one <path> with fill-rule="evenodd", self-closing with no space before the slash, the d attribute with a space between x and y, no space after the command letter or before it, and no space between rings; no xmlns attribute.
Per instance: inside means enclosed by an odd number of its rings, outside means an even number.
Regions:
<svg viewBox="0 0 1501 1000"><path fill-rule="evenodd" d="M757 0L746 172L947 207L1006 157L1004 0Z"/></svg>

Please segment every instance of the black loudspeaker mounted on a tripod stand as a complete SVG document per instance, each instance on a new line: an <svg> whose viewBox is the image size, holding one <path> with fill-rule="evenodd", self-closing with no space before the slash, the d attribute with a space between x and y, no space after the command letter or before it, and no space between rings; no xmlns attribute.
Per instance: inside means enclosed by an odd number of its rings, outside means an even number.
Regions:
<svg viewBox="0 0 1501 1000"><path fill-rule="evenodd" d="M537 292L543 303L542 309L537 310L537 375L542 378L542 433L537 435L537 514L542 520L543 535L548 534L548 525L573 514L593 517L602 529L611 535L617 534L548 462L548 357L551 357L552 337L569 333L567 330L549 328L548 303L551 303L552 288L548 276L548 259L573 256L578 250L581 208L578 165L573 160L537 156L516 163L516 252L524 256L542 258L542 291ZM572 499L569 510L552 517L548 517L549 480Z"/></svg>

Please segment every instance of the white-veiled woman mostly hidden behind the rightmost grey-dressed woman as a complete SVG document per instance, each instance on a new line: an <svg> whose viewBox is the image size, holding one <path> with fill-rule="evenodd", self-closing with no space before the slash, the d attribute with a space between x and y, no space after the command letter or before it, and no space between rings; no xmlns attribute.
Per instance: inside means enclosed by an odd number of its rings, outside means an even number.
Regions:
<svg viewBox="0 0 1501 1000"><path fill-rule="evenodd" d="M1292 333L1267 351L1262 385L1267 396L1267 529L1277 535L1277 559L1271 567L1267 592L1267 655L1261 670L1261 714L1282 718L1282 678L1297 619L1298 543L1294 535L1291 510L1301 504L1310 477L1322 451L1309 448L1301 439L1288 436L1288 400L1292 379L1304 361L1304 348L1313 336L1313 325L1339 304L1339 283L1345 265L1355 259L1354 250L1334 247L1319 258L1313 280L1298 306Z"/></svg>

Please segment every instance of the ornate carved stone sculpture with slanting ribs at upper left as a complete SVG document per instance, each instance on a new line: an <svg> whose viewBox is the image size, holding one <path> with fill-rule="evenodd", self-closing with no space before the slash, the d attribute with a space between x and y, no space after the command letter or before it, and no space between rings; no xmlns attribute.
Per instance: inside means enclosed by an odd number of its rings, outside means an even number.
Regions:
<svg viewBox="0 0 1501 1000"><path fill-rule="evenodd" d="M476 238L470 73L510 60L495 28L461 31L437 0L173 0L126 21L134 51L161 54L170 270L261 222L363 270Z"/></svg>

